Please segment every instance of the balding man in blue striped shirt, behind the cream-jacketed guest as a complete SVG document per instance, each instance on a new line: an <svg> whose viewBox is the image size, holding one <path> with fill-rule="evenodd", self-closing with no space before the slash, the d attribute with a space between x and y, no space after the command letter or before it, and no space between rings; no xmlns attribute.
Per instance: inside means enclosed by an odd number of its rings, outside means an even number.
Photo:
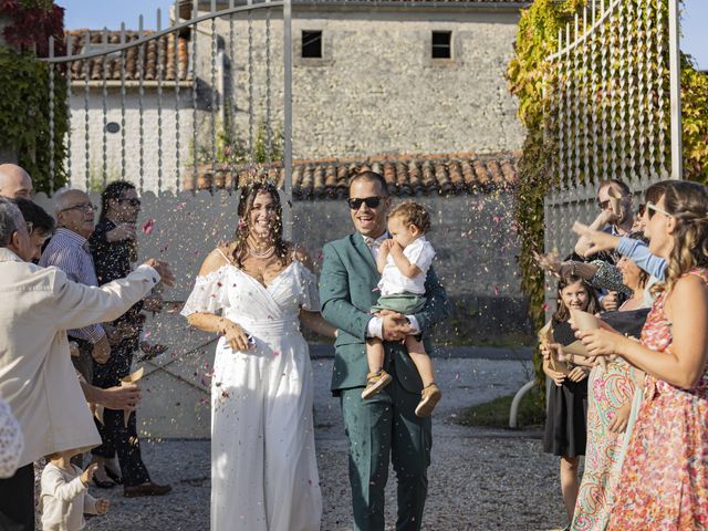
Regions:
<svg viewBox="0 0 708 531"><path fill-rule="evenodd" d="M87 241L94 229L95 214L90 197L81 190L60 192L54 198L54 214L59 228L44 249L39 264L61 269L73 282L98 285ZM106 333L101 324L92 324L70 330L67 334L79 344L80 357L72 361L86 382L91 382L92 360L104 364L111 356Z"/></svg>

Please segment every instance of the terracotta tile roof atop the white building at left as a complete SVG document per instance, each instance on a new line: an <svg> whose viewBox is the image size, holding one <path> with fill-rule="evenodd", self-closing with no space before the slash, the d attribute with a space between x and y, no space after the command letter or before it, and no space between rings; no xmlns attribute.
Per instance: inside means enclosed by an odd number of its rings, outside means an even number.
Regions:
<svg viewBox="0 0 708 531"><path fill-rule="evenodd" d="M73 30L65 32L66 39L71 41L72 55L84 53L86 45L86 37L90 30ZM145 34L154 33L154 31L145 31ZM103 44L103 32L91 31L90 44L92 51L100 49ZM136 31L125 32L125 42L136 41L138 33ZM189 46L188 40L184 37L175 38L174 33L164 35L159 39L148 41L144 44L143 52L143 79L145 81L156 81L159 75L159 43L163 46L163 81L180 81L190 79L189 73ZM121 44L121 32L110 31L107 35L108 46ZM175 62L175 43L177 43L178 61ZM95 46L95 48L94 48ZM126 81L139 80L139 48L129 48L125 53L125 79ZM87 61L87 65L86 65ZM84 81L86 73L84 69L88 69L88 77L91 81L103 80L103 56L88 60L77 60L71 63L71 77L74 81ZM106 80L121 79L121 54L116 53L106 58Z"/></svg>

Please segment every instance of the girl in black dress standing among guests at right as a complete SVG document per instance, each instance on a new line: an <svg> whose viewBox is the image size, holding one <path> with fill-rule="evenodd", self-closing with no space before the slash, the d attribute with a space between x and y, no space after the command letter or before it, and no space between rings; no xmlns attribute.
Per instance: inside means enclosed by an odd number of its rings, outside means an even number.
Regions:
<svg viewBox="0 0 708 531"><path fill-rule="evenodd" d="M575 341L569 323L571 309L592 314L600 311L595 290L575 274L559 280L558 306L552 320L554 343L569 345ZM561 458L561 491L569 521L572 522L580 488L577 465L580 456L585 455L590 369L569 365L568 373L556 371L558 366L552 364L546 346L542 344L541 350L544 354L543 372L555 384L548 388L543 451Z"/></svg>

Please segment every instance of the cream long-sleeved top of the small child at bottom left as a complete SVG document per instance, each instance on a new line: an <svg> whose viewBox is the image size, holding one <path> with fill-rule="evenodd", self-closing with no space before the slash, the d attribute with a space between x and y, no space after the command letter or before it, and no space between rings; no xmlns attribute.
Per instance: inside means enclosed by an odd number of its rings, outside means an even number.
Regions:
<svg viewBox="0 0 708 531"><path fill-rule="evenodd" d="M42 470L42 529L44 531L80 531L86 527L84 513L96 514L96 499L81 481L82 470L74 473L48 462Z"/></svg>

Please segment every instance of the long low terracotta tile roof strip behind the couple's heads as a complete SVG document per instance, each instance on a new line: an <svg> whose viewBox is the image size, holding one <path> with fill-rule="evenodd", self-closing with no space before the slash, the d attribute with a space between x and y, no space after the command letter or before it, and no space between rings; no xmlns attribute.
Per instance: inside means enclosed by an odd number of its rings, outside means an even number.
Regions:
<svg viewBox="0 0 708 531"><path fill-rule="evenodd" d="M517 180L518 158L519 153L457 153L367 159L295 160L292 171L293 196L295 199L345 197L350 178L365 170L381 173L395 196L448 196L483 191L513 186ZM210 189L212 186L230 188L232 181L229 166L217 165L216 169L216 176L212 177L211 165L202 165L197 183L191 170L187 170L184 177L185 189ZM236 167L237 185L248 179L249 169L244 165ZM281 163L262 165L258 173L268 175L278 186L283 185Z"/></svg>

